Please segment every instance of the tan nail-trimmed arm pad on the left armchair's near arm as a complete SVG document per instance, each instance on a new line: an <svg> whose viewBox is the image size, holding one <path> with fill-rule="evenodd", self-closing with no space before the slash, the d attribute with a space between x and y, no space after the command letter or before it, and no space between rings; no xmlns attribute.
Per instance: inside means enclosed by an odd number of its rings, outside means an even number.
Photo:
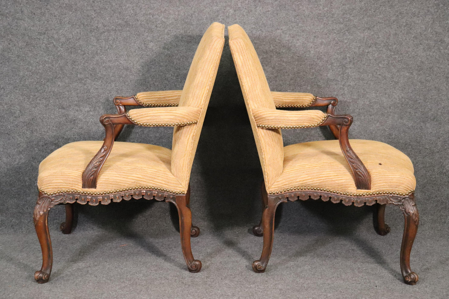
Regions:
<svg viewBox="0 0 449 299"><path fill-rule="evenodd" d="M175 123L197 122L201 109L196 107L163 107L140 108L128 111L128 117L137 124L167 124L175 126Z"/></svg>

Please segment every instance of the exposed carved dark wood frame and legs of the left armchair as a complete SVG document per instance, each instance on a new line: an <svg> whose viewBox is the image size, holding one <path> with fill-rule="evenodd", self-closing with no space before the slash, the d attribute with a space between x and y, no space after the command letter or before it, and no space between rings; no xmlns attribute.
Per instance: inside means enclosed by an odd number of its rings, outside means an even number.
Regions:
<svg viewBox="0 0 449 299"><path fill-rule="evenodd" d="M97 177L101 167L110 154L114 140L119 136L125 124L134 124L126 115L125 105L142 106L135 97L115 97L114 104L119 114L104 114L100 118L100 122L105 128L106 137L100 150L95 154L88 166L85 168L82 176L83 188L96 188ZM201 261L194 259L190 246L190 237L198 237L200 230L197 226L192 225L192 212L190 211L190 185L185 194L170 193L155 189L130 189L123 192L111 193L107 195L87 195L73 192L57 193L53 195L39 192L33 220L37 237L39 238L42 250L42 267L35 272L35 280L38 283L45 283L50 278L53 265L53 249L48 230L48 212L51 208L58 204L66 206L66 221L60 226L62 233L68 234L72 231L73 226L73 203L88 203L91 206L98 204L107 205L110 202L121 202L122 200L130 200L131 198L145 198L147 200L155 199L157 201L171 202L176 206L179 215L179 231L181 239L181 248L184 255L185 263L189 272L196 273L201 270Z"/></svg>

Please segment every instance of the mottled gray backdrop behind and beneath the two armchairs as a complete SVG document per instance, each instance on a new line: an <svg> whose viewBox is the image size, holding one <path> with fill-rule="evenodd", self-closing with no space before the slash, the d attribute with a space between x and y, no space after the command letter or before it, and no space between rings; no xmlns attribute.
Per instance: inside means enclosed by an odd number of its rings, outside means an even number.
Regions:
<svg viewBox="0 0 449 299"><path fill-rule="evenodd" d="M448 9L445 0L1 1L0 297L447 298ZM68 142L101 140L98 118L114 113L114 96L181 89L214 21L247 31L273 91L338 97L337 112L354 117L351 138L411 158L416 286L402 282L394 207L380 237L372 207L284 204L267 271L252 272L262 173L227 41L191 175L202 271L186 269L173 208L142 199L77 205L71 235L58 230L63 208L52 209L53 273L34 282L40 161ZM128 127L120 140L170 147L171 134ZM324 128L283 134L286 145L331 138Z"/></svg>

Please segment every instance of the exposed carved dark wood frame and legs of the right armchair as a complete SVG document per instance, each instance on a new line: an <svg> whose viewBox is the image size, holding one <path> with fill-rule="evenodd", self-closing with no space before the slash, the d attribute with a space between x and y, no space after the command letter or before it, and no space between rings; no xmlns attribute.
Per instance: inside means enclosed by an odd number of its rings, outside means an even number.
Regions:
<svg viewBox="0 0 449 299"><path fill-rule="evenodd" d="M328 117L320 124L320 126L329 126L334 136L339 139L340 148L352 170L357 189L369 190L371 188L370 174L349 144L348 130L352 124L352 116L333 114L335 105L337 104L336 98L317 99L321 101L317 103L319 105L314 106L326 106L326 103L329 105L327 107ZM418 274L412 272L410 268L410 252L419 224L419 213L414 199L414 192L401 196L399 194L384 193L372 195L367 193L366 196L350 196L346 194L343 195L342 192L332 193L318 188L304 190L295 188L295 190L287 189L287 191L284 190L284 192L270 192L270 194L267 192L265 184L262 184L261 193L262 218L260 223L253 227L253 233L256 236L264 237L264 245L260 259L255 260L252 264L254 272L263 273L267 267L273 248L274 215L277 206L281 202L294 202L299 199L321 199L324 202L329 200L334 203L342 202L346 206L350 206L354 203L356 207L361 207L365 204L368 206L376 204L377 207L374 211L374 229L381 236L390 232L390 228L385 224L384 213L386 205L399 207L404 214L405 220L400 255L402 277L404 282L409 285L414 285L418 281Z"/></svg>

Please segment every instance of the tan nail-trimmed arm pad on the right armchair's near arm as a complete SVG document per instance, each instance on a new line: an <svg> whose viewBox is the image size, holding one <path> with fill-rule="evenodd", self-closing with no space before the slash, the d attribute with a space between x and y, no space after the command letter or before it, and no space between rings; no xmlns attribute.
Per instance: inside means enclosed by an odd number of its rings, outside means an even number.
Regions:
<svg viewBox="0 0 449 299"><path fill-rule="evenodd" d="M298 126L316 127L323 123L327 114L320 110L286 111L268 108L254 108L254 120L258 126L269 128L297 128Z"/></svg>

